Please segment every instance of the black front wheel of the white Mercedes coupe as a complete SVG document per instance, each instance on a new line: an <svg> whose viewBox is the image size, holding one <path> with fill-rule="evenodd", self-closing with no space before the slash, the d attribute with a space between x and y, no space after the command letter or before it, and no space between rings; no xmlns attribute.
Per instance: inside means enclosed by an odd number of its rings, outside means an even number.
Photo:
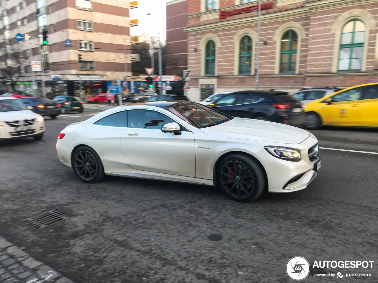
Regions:
<svg viewBox="0 0 378 283"><path fill-rule="evenodd" d="M229 198L240 202L255 200L265 188L262 169L252 158L242 154L232 154L220 161L217 181Z"/></svg>

